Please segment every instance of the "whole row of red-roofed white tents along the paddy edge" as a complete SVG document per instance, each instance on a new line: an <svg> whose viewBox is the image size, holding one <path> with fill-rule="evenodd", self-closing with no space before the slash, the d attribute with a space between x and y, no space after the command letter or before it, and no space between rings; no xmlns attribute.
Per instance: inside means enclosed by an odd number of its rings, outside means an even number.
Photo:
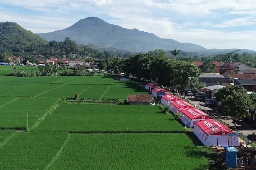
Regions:
<svg viewBox="0 0 256 170"><path fill-rule="evenodd" d="M153 83L152 83L153 84ZM149 84L151 85L151 84ZM148 84L146 84L146 87ZM154 84L156 86L156 84ZM160 87L148 86L152 95L156 97ZM146 88L145 87L145 88ZM208 114L198 110L195 106L185 102L181 98L169 94L162 96L161 103L169 106L170 111L174 114L181 114L181 121L189 128L194 128L193 132L198 139L206 146L239 146L238 134L227 128L225 125L214 120ZM154 95L154 94L155 95Z"/></svg>

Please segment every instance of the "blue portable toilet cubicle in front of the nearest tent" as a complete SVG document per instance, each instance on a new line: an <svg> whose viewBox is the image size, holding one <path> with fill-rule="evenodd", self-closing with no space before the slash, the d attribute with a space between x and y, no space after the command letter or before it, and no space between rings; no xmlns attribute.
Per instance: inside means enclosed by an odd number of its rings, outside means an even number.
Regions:
<svg viewBox="0 0 256 170"><path fill-rule="evenodd" d="M227 166L237 167L237 149L235 147L224 147Z"/></svg>

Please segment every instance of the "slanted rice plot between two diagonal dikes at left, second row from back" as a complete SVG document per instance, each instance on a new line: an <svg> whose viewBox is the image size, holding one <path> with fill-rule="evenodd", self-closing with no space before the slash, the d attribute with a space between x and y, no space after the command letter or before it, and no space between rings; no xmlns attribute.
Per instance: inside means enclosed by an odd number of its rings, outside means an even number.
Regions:
<svg viewBox="0 0 256 170"><path fill-rule="evenodd" d="M45 91L51 90L58 86L61 86L61 84L33 84L32 86L28 86L19 90L4 93L2 96L34 97L36 95L39 95ZM48 92L52 92L52 91L48 91Z"/></svg>

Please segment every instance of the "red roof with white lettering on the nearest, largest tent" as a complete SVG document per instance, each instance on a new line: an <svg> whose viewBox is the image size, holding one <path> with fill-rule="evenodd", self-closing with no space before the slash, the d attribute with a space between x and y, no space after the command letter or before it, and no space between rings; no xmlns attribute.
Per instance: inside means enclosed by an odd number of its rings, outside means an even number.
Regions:
<svg viewBox="0 0 256 170"><path fill-rule="evenodd" d="M219 123L213 119L205 119L196 122L199 128L201 128L205 134L214 135L215 133L225 132L225 135L228 133L233 133L230 129L224 126L224 124Z"/></svg>

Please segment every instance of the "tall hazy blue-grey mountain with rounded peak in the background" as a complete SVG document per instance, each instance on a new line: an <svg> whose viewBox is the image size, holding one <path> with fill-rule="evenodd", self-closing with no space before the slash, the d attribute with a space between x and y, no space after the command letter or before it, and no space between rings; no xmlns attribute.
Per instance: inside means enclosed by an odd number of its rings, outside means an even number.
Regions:
<svg viewBox="0 0 256 170"><path fill-rule="evenodd" d="M69 37L79 44L91 43L137 52L155 49L171 50L176 47L179 50L191 52L207 50L200 45L160 38L153 33L139 31L138 29L122 28L96 17L81 19L66 29L38 33L37 35L47 41L63 41L66 37Z"/></svg>

